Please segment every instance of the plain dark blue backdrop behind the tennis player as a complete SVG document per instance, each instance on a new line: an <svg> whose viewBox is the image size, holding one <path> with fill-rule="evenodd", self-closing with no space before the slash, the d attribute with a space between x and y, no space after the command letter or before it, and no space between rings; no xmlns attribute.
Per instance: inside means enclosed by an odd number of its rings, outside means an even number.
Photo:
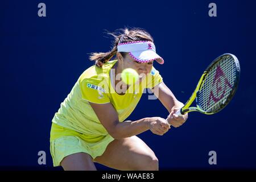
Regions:
<svg viewBox="0 0 256 182"><path fill-rule="evenodd" d="M46 3L46 17L38 4ZM90 52L106 52L105 30L141 27L154 37L165 63L154 64L166 85L187 101L207 65L230 52L241 64L236 96L220 113L189 114L181 127L162 137L139 137L154 150L160 169L256 169L255 2L214 1L0 1L0 167L52 167L51 119L90 65ZM163 117L159 100L144 94L130 120ZM38 152L47 164L39 166ZM209 151L217 165L209 165ZM98 169L110 169L96 164Z"/></svg>

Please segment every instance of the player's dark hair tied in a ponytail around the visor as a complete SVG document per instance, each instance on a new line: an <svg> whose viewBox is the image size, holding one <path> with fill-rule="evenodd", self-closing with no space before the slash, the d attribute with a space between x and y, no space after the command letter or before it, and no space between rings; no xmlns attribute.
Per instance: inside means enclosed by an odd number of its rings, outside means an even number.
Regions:
<svg viewBox="0 0 256 182"><path fill-rule="evenodd" d="M118 31L118 32L117 32ZM116 32L108 32L109 35L114 36L114 44L112 50L109 52L93 52L90 53L89 59L95 61L97 67L102 67L103 64L108 62L117 54L117 45L119 43L127 43L133 41L146 40L154 42L152 36L142 28L128 28L119 29ZM126 52L120 52L125 57Z"/></svg>

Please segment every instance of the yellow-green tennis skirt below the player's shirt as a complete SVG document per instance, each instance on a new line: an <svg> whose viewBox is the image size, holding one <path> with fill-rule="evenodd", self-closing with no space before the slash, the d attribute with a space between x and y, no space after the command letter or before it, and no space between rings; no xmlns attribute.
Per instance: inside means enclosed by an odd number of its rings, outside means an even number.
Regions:
<svg viewBox="0 0 256 182"><path fill-rule="evenodd" d="M114 140L109 134L92 137L52 123L50 151L53 166L60 166L65 156L85 152L95 159L101 156L110 142Z"/></svg>

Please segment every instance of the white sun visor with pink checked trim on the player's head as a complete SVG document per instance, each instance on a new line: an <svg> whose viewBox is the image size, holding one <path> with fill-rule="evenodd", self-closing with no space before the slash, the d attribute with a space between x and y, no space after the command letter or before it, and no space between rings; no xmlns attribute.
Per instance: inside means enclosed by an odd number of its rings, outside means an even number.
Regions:
<svg viewBox="0 0 256 182"><path fill-rule="evenodd" d="M156 53L154 43L150 41L120 43L117 45L117 51L129 52L129 55L139 63L147 63L152 60L158 61L159 64L164 63L163 58Z"/></svg>

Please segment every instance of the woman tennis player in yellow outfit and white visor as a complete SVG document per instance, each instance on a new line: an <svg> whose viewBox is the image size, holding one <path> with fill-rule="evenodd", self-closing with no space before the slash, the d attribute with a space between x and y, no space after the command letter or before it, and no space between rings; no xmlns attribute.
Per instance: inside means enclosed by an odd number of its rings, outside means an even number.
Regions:
<svg viewBox="0 0 256 182"><path fill-rule="evenodd" d="M95 65L81 74L52 119L53 166L96 170L97 162L119 170L158 170L158 158L136 135L147 130L163 135L170 125L178 127L188 118L187 114L174 114L183 104L153 67L154 61L163 64L164 60L156 53L151 35L140 28L125 28L111 35L115 38L112 50L92 53L90 60ZM112 60L114 56L117 59ZM135 69L139 80L132 85L124 84L118 75L125 68ZM168 119L125 121L146 88L166 107ZM145 109L150 111L154 107Z"/></svg>

